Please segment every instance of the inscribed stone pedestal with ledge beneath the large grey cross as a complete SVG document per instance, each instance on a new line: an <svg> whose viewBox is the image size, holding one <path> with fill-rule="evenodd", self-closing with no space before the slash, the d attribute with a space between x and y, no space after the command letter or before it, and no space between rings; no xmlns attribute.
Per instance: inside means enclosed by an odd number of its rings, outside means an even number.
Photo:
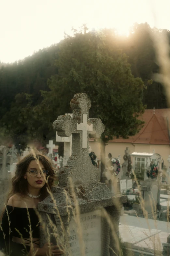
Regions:
<svg viewBox="0 0 170 256"><path fill-rule="evenodd" d="M69 186L58 185L52 189L52 194L55 197L58 211L60 213L65 230L68 229L70 233L72 232L71 230L74 230L75 237L77 237L75 228L73 228L72 226L74 224L74 219L70 217L70 221L67 221L68 210L70 211L70 208L67 207L64 190L67 191L67 196L70 198L72 202L72 207L74 208L74 201L72 199L71 188ZM115 255L111 249L109 251L109 246L115 251L116 242L111 235L110 225L108 224L106 218L104 218L103 215L100 216L100 209L105 208L114 225L116 235L117 237L119 237L120 211L122 208L122 203L126 202L127 200L127 196L115 195L108 189L105 183L99 182L75 185L74 191L79 206L80 220L83 220L83 236L92 236L93 239L95 237L95 241L89 239L89 241L86 243L85 240L85 244L87 247L86 255L93 255L88 251L88 248L92 246L94 246L95 248L99 248L99 252L96 254L97 256ZM40 212L42 220L46 225L47 223L49 223L47 214L49 215L52 222L57 226L57 230L61 237L63 235L63 231L60 218L56 210L54 212L54 204L50 196L48 196L44 201L38 204L38 211ZM70 212L70 214L72 216L72 211ZM93 229L94 226L95 229ZM48 241L48 235L45 231L46 228L47 226L40 228L40 247L42 247ZM79 250L77 247L78 237L75 238L74 241L70 241L70 239L74 237L74 234L70 234L71 236L65 235L65 237L63 238L64 243L68 244L68 249L69 247L71 247L70 249L72 251L72 253L69 252L69 254L65 255L79 255L76 254ZM56 244L56 239L54 239L52 235L51 242Z"/></svg>

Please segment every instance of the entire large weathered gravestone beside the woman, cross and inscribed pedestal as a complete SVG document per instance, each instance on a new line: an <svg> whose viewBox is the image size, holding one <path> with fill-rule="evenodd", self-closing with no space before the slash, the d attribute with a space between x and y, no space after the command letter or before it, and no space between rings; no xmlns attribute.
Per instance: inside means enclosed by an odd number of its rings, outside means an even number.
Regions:
<svg viewBox="0 0 170 256"><path fill-rule="evenodd" d="M49 227L48 215L57 227L57 239L63 237L63 246L67 247L64 255L115 255L114 251L117 252L119 244L116 238L119 237L121 203L125 202L127 197L114 195L105 183L98 181L98 170L89 157L88 139L89 133L95 134L99 138L104 131L104 125L100 118L89 119L91 102L87 94L75 94L70 105L73 110L73 118L69 115L59 116L53 123L53 128L56 129L59 136L69 137L72 135L72 155L60 170L58 186L52 190L58 211L54 209L54 203L50 196L38 204L38 211L46 225L40 229L40 247L48 241L48 232L46 232ZM73 187L70 179L73 182ZM78 215L76 218L73 215L76 205L79 208L80 218ZM110 224L101 214L103 208L110 215L114 225L114 234L116 234L114 237L110 230ZM77 223L75 223L75 219ZM81 231L80 228L82 228ZM56 244L52 229L49 230L49 234L51 234L50 240ZM109 246L112 249L109 249ZM82 248L84 248L83 254L81 253Z"/></svg>

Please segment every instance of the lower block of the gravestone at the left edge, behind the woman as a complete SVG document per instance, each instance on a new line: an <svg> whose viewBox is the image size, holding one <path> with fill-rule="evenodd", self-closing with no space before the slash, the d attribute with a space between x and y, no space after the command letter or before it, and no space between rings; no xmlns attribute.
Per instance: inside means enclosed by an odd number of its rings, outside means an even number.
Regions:
<svg viewBox="0 0 170 256"><path fill-rule="evenodd" d="M6 204L7 195L11 186L11 179L0 179L0 215L2 213L4 203Z"/></svg>

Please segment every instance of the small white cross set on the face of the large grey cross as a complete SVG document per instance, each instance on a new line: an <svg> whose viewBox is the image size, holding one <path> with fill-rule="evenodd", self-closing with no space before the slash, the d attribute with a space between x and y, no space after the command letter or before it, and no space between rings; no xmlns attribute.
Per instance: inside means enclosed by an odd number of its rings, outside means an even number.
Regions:
<svg viewBox="0 0 170 256"><path fill-rule="evenodd" d="M82 131L83 136L82 136L82 148L87 148L87 131L92 131L93 130L93 125L88 125L87 123L87 114L83 114L83 123L78 124L77 123L77 131Z"/></svg>

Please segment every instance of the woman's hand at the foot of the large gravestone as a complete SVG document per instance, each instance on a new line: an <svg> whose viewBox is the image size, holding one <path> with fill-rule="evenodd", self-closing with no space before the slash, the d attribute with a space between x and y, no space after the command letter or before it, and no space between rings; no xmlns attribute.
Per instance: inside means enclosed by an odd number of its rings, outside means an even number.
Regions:
<svg viewBox="0 0 170 256"><path fill-rule="evenodd" d="M57 245L54 245L52 246L52 243L51 245L49 245L49 243L46 243L42 248L38 248L38 251L36 253L36 255L38 256L53 256L53 255L62 255L64 254L64 251L63 250L60 250L59 247Z"/></svg>

